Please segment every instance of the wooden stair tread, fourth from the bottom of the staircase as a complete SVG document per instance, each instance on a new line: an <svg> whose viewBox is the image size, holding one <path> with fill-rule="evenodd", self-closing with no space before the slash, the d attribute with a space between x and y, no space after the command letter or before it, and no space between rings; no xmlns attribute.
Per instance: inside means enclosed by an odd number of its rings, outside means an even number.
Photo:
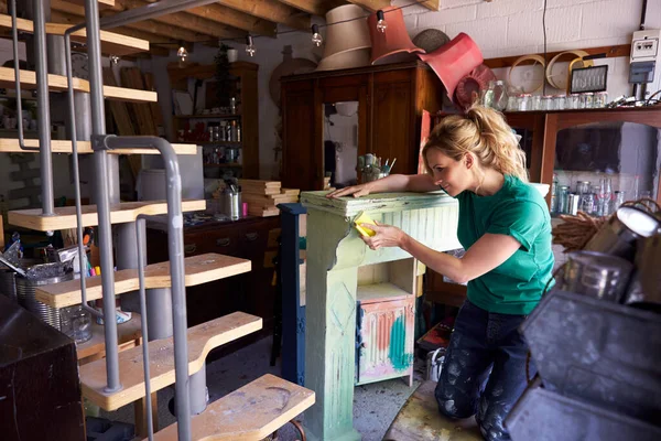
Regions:
<svg viewBox="0 0 661 441"><path fill-rule="evenodd" d="M205 200L182 201L183 212L196 212L201 209L206 209ZM8 213L8 223L37 232L76 228L75 206L57 207L54 212L54 216L43 216L41 208L15 209ZM167 203L165 201L122 202L110 206L110 223L126 224L134 222L141 214L160 215L165 213L167 213ZM96 205L84 205L83 226L97 226L98 222Z"/></svg>

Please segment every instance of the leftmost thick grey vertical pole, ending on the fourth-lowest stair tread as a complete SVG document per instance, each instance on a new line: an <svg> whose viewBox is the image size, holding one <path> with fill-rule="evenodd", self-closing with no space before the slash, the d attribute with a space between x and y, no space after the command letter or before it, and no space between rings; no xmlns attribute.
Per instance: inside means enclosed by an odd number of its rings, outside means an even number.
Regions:
<svg viewBox="0 0 661 441"><path fill-rule="evenodd" d="M46 57L46 23L44 3L33 0L34 8L34 68L36 71L36 119L39 127L40 165L42 183L42 214L52 216L53 159L51 157L51 109L48 104L48 61ZM19 115L18 118L23 118Z"/></svg>

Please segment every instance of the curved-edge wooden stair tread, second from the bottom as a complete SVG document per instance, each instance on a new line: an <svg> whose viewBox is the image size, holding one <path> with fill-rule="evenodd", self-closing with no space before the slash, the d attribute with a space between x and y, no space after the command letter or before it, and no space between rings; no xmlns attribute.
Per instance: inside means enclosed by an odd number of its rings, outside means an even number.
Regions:
<svg viewBox="0 0 661 441"><path fill-rule="evenodd" d="M240 338L262 327L261 318L234 312L219 319L188 329L188 375L197 373L205 364L207 354L215 347ZM149 343L151 389L160 390L174 384L173 338ZM106 392L106 361L99 359L79 368L83 396L106 410L144 397L144 372L142 347L137 346L119 353L119 380L123 388L118 392Z"/></svg>

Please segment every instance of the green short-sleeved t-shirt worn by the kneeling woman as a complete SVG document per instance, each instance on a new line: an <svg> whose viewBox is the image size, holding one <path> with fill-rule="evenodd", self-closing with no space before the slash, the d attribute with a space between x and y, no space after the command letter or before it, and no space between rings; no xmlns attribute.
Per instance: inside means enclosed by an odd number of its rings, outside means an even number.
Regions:
<svg viewBox="0 0 661 441"><path fill-rule="evenodd" d="M468 300L501 314L527 315L539 303L553 272L551 216L540 192L506 175L491 196L463 192L457 236L465 249L483 235L512 236L521 247L502 265L468 282Z"/></svg>

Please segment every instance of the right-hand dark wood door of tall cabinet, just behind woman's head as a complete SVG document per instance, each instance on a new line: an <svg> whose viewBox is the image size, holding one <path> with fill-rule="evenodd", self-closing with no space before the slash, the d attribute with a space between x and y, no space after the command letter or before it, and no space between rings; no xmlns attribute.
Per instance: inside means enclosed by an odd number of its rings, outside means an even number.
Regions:
<svg viewBox="0 0 661 441"><path fill-rule="evenodd" d="M413 105L410 82L375 80L372 90L371 152L386 162L397 158L393 173L415 173Z"/></svg>

